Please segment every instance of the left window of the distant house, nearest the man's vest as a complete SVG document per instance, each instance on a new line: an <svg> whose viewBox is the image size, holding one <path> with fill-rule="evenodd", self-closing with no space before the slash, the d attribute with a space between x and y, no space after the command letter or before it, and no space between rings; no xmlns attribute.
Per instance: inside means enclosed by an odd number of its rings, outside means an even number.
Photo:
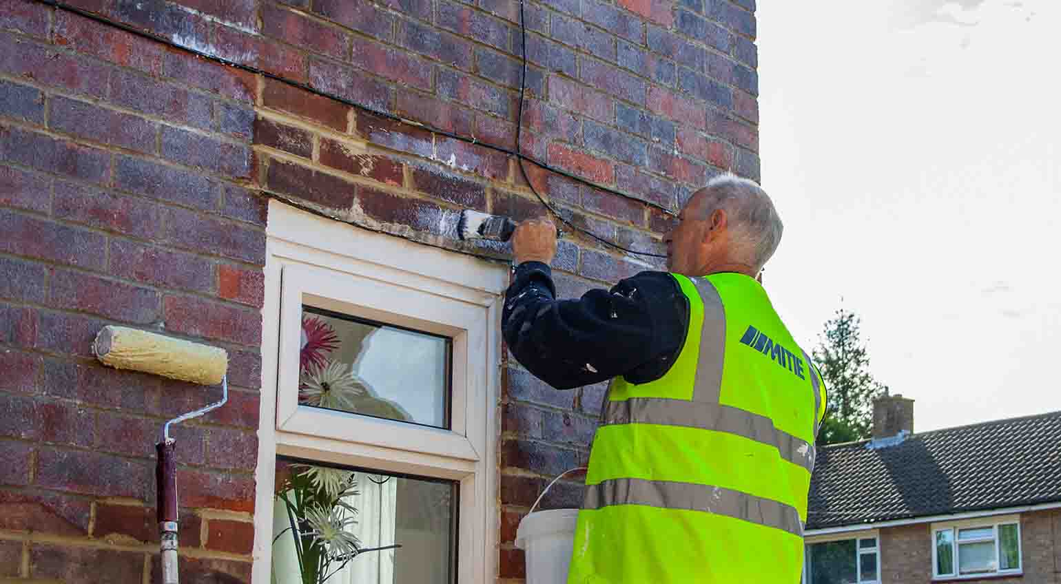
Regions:
<svg viewBox="0 0 1061 584"><path fill-rule="evenodd" d="M880 582L880 547L876 533L842 539L807 539L805 584L863 584Z"/></svg>

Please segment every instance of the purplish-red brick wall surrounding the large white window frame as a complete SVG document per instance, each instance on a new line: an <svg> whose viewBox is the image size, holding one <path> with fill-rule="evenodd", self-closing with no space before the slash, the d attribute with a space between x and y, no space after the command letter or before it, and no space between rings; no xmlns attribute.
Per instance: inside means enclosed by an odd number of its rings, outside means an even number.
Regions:
<svg viewBox="0 0 1061 584"><path fill-rule="evenodd" d="M69 2L378 111L515 146L517 0ZM662 209L676 211L726 170L758 178L754 7L528 2L522 147L634 198L527 164L535 187L579 227L660 252L672 220ZM0 0L0 407L12 412L0 421L0 455L13 461L0 468L0 578L84 581L106 566L108 581L133 582L157 569L152 444L166 417L213 395L94 364L94 333L126 323L233 356L232 402L177 430L182 578L247 579L271 196L491 256L506 252L454 238L462 208L541 212L503 153L31 0ZM554 266L559 293L572 297L660 264L573 234ZM547 479L586 462L604 387L558 392L515 361L504 371L499 576L518 581L516 526ZM574 477L544 503L579 498Z"/></svg>

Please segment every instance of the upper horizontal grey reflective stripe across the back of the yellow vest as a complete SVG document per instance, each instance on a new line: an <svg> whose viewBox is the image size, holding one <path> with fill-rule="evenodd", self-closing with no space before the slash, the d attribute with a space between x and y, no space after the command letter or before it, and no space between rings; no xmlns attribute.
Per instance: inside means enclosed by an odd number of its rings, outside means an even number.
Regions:
<svg viewBox="0 0 1061 584"><path fill-rule="evenodd" d="M735 433L776 447L781 458L799 464L808 473L814 470L813 444L777 429L765 415L732 406L662 397L630 397L609 402L601 424L661 424Z"/></svg>

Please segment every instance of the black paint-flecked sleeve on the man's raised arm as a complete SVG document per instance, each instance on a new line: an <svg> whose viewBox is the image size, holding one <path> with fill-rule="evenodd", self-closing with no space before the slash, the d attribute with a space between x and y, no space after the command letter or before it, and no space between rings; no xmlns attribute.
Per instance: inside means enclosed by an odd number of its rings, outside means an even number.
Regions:
<svg viewBox="0 0 1061 584"><path fill-rule="evenodd" d="M689 307L671 275L643 271L579 300L556 300L555 289L547 265L520 264L502 313L511 355L554 388L619 375L645 383L665 373L677 357Z"/></svg>

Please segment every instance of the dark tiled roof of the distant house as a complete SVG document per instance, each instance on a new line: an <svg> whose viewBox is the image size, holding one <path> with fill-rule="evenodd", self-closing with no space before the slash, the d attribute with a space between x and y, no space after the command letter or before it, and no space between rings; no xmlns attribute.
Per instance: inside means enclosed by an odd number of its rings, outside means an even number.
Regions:
<svg viewBox="0 0 1061 584"><path fill-rule="evenodd" d="M1048 501L1061 501L1061 411L915 433L892 445L819 447L806 527Z"/></svg>

